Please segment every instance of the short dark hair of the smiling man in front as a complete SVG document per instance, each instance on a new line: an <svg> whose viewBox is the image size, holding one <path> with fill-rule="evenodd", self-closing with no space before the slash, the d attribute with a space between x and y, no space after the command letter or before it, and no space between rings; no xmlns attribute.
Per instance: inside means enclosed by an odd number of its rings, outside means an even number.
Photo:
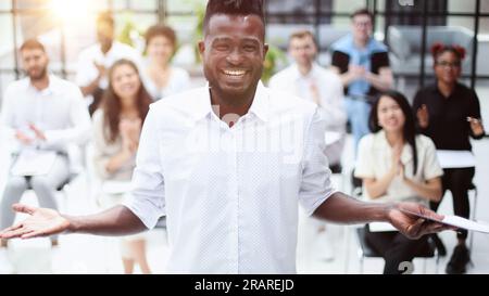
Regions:
<svg viewBox="0 0 489 296"><path fill-rule="evenodd" d="M263 0L209 0L203 22L204 33L209 28L211 17L216 14L256 15L265 25Z"/></svg>

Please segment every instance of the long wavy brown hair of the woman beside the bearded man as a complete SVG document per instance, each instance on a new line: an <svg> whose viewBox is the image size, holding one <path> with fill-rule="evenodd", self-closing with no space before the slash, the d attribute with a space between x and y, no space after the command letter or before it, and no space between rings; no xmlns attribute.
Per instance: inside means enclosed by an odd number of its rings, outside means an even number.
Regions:
<svg viewBox="0 0 489 296"><path fill-rule="evenodd" d="M122 112L122 104L121 104L121 98L118 98L117 94L115 94L113 85L112 85L112 76L114 74L115 68L127 65L130 66L136 70L136 73L139 76L139 70L136 64L129 60L120 60L114 63L114 65L109 69L109 88L103 93L103 126L106 127L109 131L109 134L104 134L105 138L110 142L115 142L120 134L118 130L118 124L121 123L121 112ZM149 105L152 103L151 96L146 90L145 86L141 82L141 87L139 88L139 92L137 94L137 102L136 107L139 112L139 118L141 118L141 121L145 121L146 116L149 112Z"/></svg>

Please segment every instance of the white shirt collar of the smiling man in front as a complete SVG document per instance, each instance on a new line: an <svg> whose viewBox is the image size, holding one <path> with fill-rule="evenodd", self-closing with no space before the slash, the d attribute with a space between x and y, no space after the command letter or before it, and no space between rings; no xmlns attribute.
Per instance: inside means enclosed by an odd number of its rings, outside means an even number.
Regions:
<svg viewBox="0 0 489 296"><path fill-rule="evenodd" d="M202 100L196 100L196 104L191 107L196 120L211 116L213 113L209 82L201 91L202 93L199 98ZM260 81L256 87L253 103L251 104L248 114L252 114L263 121L268 121L268 90L263 86L262 81Z"/></svg>

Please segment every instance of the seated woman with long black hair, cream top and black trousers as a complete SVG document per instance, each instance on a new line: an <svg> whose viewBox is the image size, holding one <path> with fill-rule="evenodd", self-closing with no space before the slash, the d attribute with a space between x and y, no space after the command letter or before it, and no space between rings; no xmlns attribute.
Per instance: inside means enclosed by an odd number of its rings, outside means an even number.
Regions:
<svg viewBox="0 0 489 296"><path fill-rule="evenodd" d="M369 118L374 132L359 145L355 177L363 180L369 201L418 202L441 198L441 176L432 141L415 132L414 114L399 92L388 91L374 104ZM427 247L426 237L410 241L399 232L371 232L366 241L386 260L384 273L400 273L400 263L412 261Z"/></svg>

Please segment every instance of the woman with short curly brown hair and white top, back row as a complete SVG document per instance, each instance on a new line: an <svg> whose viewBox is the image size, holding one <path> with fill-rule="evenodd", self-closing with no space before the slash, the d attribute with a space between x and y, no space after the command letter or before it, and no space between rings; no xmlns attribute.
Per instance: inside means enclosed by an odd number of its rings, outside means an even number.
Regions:
<svg viewBox="0 0 489 296"><path fill-rule="evenodd" d="M148 60L142 72L142 81L154 101L190 88L188 73L170 63L176 43L176 35L171 27L155 25L146 33Z"/></svg>

